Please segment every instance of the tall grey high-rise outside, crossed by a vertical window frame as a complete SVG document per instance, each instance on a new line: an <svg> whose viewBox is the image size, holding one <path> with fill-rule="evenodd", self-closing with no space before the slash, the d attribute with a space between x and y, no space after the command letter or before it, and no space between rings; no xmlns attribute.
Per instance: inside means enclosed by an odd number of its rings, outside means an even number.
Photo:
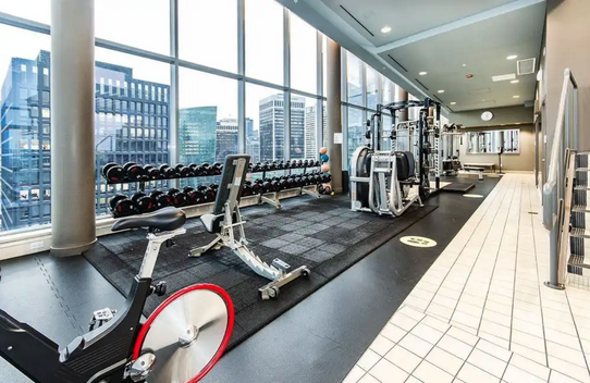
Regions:
<svg viewBox="0 0 590 383"><path fill-rule="evenodd" d="M260 160L303 159L305 156L305 98L291 98L291 153L284 155L285 124L282 94L269 96L259 103Z"/></svg>

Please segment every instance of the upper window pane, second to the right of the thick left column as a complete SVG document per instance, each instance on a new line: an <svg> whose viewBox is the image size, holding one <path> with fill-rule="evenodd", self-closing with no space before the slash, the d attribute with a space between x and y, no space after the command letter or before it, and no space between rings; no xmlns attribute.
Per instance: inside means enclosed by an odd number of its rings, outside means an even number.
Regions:
<svg viewBox="0 0 590 383"><path fill-rule="evenodd" d="M237 0L180 0L179 57L237 72Z"/></svg>

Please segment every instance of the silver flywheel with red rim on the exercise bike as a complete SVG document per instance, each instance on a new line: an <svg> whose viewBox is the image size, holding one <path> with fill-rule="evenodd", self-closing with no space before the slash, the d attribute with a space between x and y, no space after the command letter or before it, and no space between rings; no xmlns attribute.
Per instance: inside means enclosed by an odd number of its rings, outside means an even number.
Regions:
<svg viewBox="0 0 590 383"><path fill-rule="evenodd" d="M155 368L149 383L195 383L223 355L234 325L234 308L221 287L183 288L164 300L142 328L133 359L150 353Z"/></svg>

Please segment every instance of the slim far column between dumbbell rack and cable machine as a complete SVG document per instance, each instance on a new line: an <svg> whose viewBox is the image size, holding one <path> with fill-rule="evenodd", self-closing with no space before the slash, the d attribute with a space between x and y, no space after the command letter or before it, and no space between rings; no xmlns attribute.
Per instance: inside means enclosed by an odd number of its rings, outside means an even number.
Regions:
<svg viewBox="0 0 590 383"><path fill-rule="evenodd" d="M327 60L327 104L328 128L325 141L328 143L328 155L330 156L330 173L332 174L332 190L342 193L342 75L340 45L328 38ZM339 144L334 136L340 136Z"/></svg>

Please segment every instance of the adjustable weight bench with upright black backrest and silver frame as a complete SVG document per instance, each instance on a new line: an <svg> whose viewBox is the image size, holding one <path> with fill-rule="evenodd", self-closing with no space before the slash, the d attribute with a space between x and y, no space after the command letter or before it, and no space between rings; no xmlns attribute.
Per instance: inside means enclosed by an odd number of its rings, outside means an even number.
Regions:
<svg viewBox="0 0 590 383"><path fill-rule="evenodd" d="M239 213L239 197L248 171L249 156L232 155L225 158L221 184L219 185L213 212L200 217L207 232L216 234L216 239L206 246L190 250L189 257L200 257L205 252L213 249L218 250L223 246L229 247L258 275L272 282L260 287L258 291L262 299L276 298L280 287L296 280L299 276L309 276L309 269L302 265L293 271L291 267L275 258L272 264L268 264L258 258L247 248L248 240L244 233L244 223ZM236 238L234 227L237 227L239 235Z"/></svg>

